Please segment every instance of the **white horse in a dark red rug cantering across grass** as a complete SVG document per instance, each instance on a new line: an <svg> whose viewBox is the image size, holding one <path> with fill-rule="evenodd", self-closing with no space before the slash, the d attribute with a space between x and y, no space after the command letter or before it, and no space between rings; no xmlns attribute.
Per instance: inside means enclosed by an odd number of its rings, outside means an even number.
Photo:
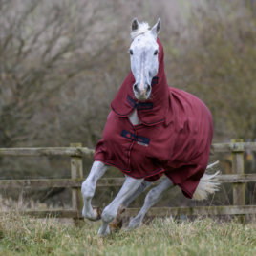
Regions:
<svg viewBox="0 0 256 256"><path fill-rule="evenodd" d="M151 30L148 23L132 21L131 72L111 103L92 169L81 186L82 215L102 220L100 236L120 227L121 213L163 174L166 177L146 195L129 230L138 228L147 210L177 185L185 197L195 200L218 190L218 172L206 171L215 164L208 165L213 137L210 111L196 96L167 85L160 28L160 19ZM117 167L125 181L101 213L91 201L96 181L110 166Z"/></svg>

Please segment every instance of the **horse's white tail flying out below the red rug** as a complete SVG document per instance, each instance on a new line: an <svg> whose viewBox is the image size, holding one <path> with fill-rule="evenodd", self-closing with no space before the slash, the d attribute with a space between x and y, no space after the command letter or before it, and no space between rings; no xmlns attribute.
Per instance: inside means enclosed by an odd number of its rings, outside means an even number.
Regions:
<svg viewBox="0 0 256 256"><path fill-rule="evenodd" d="M220 171L217 171L215 174L207 174L207 170L211 169L215 164L219 161L216 161L212 164L209 164L203 174L203 177L200 179L198 187L193 195L193 199L195 200L203 200L206 199L208 194L212 194L215 191L219 190L220 182L217 181L217 176Z"/></svg>

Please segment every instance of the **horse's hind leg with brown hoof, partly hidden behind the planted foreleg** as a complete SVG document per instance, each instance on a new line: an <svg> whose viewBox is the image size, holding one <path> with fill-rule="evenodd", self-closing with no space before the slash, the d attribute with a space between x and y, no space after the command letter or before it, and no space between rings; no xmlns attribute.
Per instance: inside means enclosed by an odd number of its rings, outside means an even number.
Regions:
<svg viewBox="0 0 256 256"><path fill-rule="evenodd" d="M122 218L121 214L125 211L125 209L132 203L140 194L142 194L148 187L150 187L151 182L149 181L142 181L139 185L139 188L123 203L121 203L117 209L117 215L115 219L109 224L110 230L117 231L119 228L122 227Z"/></svg>

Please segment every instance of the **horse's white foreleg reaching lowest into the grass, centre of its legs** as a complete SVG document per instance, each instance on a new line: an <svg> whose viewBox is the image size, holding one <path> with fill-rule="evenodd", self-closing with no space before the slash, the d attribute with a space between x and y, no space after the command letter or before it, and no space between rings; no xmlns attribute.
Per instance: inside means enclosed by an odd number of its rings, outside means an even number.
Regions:
<svg viewBox="0 0 256 256"><path fill-rule="evenodd" d="M135 180L133 178L126 177L117 197L102 212L102 224L98 230L99 235L106 236L109 233L109 224L116 217L119 205L133 195L133 193L139 188L142 181L143 179Z"/></svg>

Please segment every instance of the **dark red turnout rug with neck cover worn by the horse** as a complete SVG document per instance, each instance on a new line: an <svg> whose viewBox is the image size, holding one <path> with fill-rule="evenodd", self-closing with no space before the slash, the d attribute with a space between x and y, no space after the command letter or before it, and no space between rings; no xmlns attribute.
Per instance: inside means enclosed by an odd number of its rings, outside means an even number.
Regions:
<svg viewBox="0 0 256 256"><path fill-rule="evenodd" d="M198 97L167 85L163 48L159 38L157 42L159 73L152 79L150 98L136 99L130 72L111 103L94 160L135 179L157 181L165 174L191 199L208 164L212 117ZM128 118L135 110L138 125Z"/></svg>

